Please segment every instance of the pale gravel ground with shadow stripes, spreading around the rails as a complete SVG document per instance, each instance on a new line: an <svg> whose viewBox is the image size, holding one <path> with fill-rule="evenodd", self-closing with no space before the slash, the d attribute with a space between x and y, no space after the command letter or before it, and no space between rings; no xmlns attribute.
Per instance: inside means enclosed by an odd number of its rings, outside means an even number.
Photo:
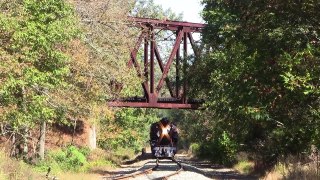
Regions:
<svg viewBox="0 0 320 180"><path fill-rule="evenodd" d="M189 157L181 154L176 155L176 159L181 162L183 171L180 173L170 176L169 180L207 180L207 179L256 179L249 176L244 176L234 171L233 169L224 168L222 166L214 165L208 161L192 160ZM101 172L102 179L114 179L117 177L130 175L132 173L141 172L154 167L154 159L143 159L132 161L132 164L123 165L121 168L117 168L112 171ZM160 160L159 167L151 171L150 173L142 173L136 177L130 177L126 179L139 179L139 180L150 180L150 179L162 179L162 177L174 173L178 170L177 164L171 160Z"/></svg>

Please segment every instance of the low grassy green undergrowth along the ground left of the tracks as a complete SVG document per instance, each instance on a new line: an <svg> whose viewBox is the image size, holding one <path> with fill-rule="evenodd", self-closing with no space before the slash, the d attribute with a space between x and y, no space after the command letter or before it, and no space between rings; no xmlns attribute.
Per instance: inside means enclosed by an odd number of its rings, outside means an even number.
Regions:
<svg viewBox="0 0 320 180"><path fill-rule="evenodd" d="M33 161L31 165L23 160L8 157L5 151L0 149L0 180L44 179L48 169L50 169L50 176L96 174L120 165L123 160L133 155L133 150L123 148L108 152L70 145L48 151L45 159Z"/></svg>

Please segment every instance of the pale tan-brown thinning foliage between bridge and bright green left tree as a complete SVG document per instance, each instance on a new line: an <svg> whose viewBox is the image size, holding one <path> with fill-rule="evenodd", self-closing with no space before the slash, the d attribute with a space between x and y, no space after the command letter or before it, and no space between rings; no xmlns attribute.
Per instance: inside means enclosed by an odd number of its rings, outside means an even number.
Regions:
<svg viewBox="0 0 320 180"><path fill-rule="evenodd" d="M94 100L99 106L118 96L136 95L140 88L142 80L134 68L127 66L130 47L135 46L138 36L138 31L128 28L132 3L133 0L74 2L86 53L75 49L75 56L80 53L85 58L81 57L84 62L76 62L73 68L78 72L81 90L90 97L87 101Z"/></svg>

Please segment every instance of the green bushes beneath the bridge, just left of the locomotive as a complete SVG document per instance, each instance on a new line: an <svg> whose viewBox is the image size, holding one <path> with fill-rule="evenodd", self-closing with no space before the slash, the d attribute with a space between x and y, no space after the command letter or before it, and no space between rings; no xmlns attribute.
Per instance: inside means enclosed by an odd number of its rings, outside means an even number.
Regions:
<svg viewBox="0 0 320 180"><path fill-rule="evenodd" d="M114 119L101 120L98 144L103 149L133 149L140 152L148 144L152 122L158 121L151 109L121 109Z"/></svg>

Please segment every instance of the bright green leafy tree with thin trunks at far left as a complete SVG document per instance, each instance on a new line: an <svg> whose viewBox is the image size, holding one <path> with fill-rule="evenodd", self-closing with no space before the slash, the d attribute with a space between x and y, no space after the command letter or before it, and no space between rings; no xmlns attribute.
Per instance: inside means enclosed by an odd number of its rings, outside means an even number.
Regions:
<svg viewBox="0 0 320 180"><path fill-rule="evenodd" d="M72 8L62 0L0 1L0 8L0 119L13 144L23 143L27 153L30 129L59 117L52 92L67 85L64 49L78 30Z"/></svg>

